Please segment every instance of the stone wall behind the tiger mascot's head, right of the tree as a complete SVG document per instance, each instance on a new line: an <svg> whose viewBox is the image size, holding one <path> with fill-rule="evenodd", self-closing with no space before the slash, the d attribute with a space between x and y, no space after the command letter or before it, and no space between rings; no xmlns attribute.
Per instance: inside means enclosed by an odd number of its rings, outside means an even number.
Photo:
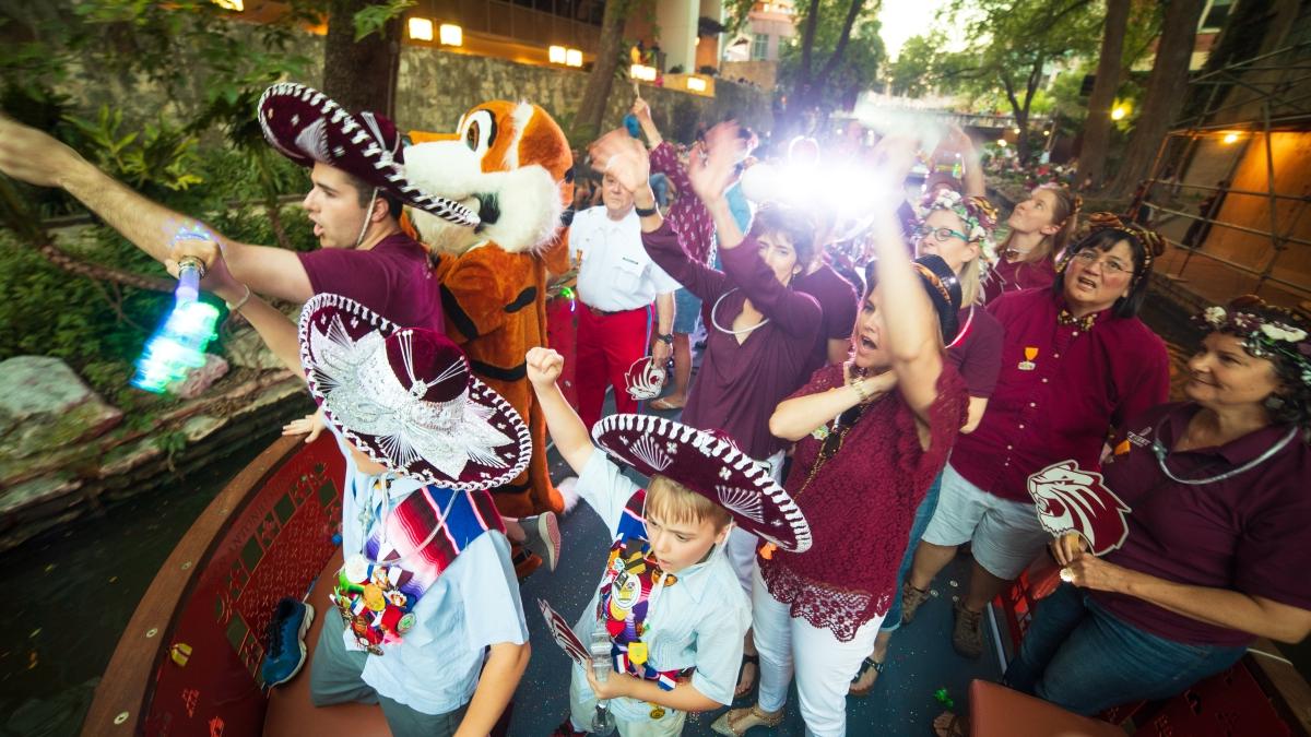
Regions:
<svg viewBox="0 0 1311 737"><path fill-rule="evenodd" d="M568 131L586 84L586 72L405 47L396 94L396 125L401 130L450 131L460 115L479 102L527 100L545 108ZM652 105L656 123L678 140L688 140L697 125L725 118L762 131L773 126L768 96L745 85L717 81L714 97L648 84L640 88ZM632 84L615 80L603 126L623 125L632 100Z"/></svg>

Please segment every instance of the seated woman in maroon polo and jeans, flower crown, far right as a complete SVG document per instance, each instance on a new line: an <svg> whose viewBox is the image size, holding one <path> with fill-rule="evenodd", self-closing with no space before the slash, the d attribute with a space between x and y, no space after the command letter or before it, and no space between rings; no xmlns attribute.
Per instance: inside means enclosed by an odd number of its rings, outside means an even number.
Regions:
<svg viewBox="0 0 1311 737"><path fill-rule="evenodd" d="M1124 544L1053 543L1067 584L1038 605L1011 686L1093 715L1172 696L1256 637L1311 633L1308 325L1253 296L1198 321L1188 401L1130 421L1103 466L1130 510Z"/></svg>

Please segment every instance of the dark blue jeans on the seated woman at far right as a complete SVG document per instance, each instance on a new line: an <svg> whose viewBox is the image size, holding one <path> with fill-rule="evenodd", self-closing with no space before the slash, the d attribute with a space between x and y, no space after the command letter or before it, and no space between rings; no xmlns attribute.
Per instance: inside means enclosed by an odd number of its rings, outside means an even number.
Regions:
<svg viewBox="0 0 1311 737"><path fill-rule="evenodd" d="M1139 699L1165 699L1234 665L1244 647L1189 645L1117 619L1087 591L1062 584L1038 602L1006 685L1093 716Z"/></svg>

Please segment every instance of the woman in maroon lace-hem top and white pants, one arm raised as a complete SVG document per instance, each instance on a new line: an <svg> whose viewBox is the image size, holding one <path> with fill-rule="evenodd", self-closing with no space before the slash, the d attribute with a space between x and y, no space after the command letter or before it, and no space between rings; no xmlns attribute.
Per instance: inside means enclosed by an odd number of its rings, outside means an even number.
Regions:
<svg viewBox="0 0 1311 737"><path fill-rule="evenodd" d="M909 169L910 155L890 152ZM851 362L815 371L770 420L776 435L797 441L787 488L814 544L804 555L759 552L759 702L720 717L721 734L777 725L793 673L806 733L847 733L848 683L888 611L915 508L965 420L965 387L943 354L960 285L939 257L911 265L895 188L888 191L876 215L880 279L856 319Z"/></svg>

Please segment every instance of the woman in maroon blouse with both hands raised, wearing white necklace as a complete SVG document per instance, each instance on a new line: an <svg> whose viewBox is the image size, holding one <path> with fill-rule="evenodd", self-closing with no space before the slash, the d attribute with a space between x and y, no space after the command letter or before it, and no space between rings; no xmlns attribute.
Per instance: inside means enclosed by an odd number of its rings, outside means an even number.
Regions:
<svg viewBox="0 0 1311 737"><path fill-rule="evenodd" d="M701 368L682 421L724 430L781 480L787 443L770 433L770 413L805 383L819 332L819 303L789 287L810 262L814 228L797 210L764 207L751 232L742 235L724 197L743 144L737 131L729 123L711 129L707 146L694 151L688 167L688 181L714 220L724 271L690 257L669 223L645 210L649 160L636 139L627 132L610 134L593 144L593 160L608 161L608 172L637 190L642 245L652 260L712 306ZM755 536L734 530L728 553L742 588L750 591Z"/></svg>

